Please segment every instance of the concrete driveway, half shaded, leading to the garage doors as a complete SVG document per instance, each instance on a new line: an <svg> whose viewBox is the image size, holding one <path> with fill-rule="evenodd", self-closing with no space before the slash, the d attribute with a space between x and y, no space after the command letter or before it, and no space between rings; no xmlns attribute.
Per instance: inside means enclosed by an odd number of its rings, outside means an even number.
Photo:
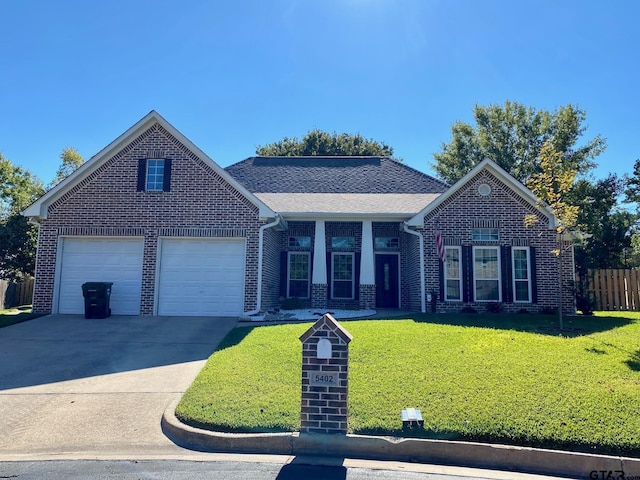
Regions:
<svg viewBox="0 0 640 480"><path fill-rule="evenodd" d="M183 451L162 414L236 323L51 315L0 329L0 459Z"/></svg>

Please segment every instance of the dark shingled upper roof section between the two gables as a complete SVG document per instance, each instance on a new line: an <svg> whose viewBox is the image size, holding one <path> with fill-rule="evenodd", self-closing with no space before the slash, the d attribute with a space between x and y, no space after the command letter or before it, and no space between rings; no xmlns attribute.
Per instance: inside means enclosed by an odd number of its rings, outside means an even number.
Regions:
<svg viewBox="0 0 640 480"><path fill-rule="evenodd" d="M448 185L387 157L250 157L225 169L253 193L442 193Z"/></svg>

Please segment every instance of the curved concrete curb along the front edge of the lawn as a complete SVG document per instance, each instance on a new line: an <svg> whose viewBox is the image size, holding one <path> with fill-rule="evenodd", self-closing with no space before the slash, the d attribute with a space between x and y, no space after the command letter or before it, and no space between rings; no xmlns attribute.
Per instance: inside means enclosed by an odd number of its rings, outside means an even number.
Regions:
<svg viewBox="0 0 640 480"><path fill-rule="evenodd" d="M572 478L591 478L590 473L593 471L611 471L615 478L618 478L621 472L624 472L625 476L640 476L640 458L510 445L364 435L212 432L180 422L175 416L177 404L178 400L172 402L165 410L162 430L176 444L197 451L394 460Z"/></svg>

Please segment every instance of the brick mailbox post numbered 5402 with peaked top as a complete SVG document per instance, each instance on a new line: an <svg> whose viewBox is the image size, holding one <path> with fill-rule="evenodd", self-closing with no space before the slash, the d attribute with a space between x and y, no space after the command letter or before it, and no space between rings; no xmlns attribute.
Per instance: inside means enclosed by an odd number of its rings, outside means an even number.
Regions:
<svg viewBox="0 0 640 480"><path fill-rule="evenodd" d="M301 337L301 433L347 433L349 342L353 337L328 313Z"/></svg>

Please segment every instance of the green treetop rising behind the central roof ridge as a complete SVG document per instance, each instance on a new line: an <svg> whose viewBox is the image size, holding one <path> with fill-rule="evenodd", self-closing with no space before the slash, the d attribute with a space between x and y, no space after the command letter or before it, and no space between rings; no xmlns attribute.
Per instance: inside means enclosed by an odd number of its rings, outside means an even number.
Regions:
<svg viewBox="0 0 640 480"><path fill-rule="evenodd" d="M256 154L268 157L294 156L393 156L389 145L364 138L362 135L327 133L314 129L302 139L284 137L274 143L259 146Z"/></svg>

